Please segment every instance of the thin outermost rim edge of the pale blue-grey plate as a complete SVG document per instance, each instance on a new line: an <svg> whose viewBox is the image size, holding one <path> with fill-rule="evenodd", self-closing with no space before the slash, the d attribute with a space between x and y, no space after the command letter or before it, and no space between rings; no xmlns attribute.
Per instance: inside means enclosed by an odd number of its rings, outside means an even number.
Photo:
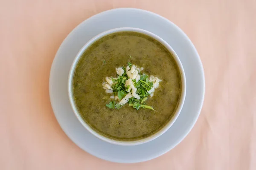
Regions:
<svg viewBox="0 0 256 170"><path fill-rule="evenodd" d="M53 72L53 66L55 65L55 63L57 62L57 56L59 55L60 51L62 50L62 46L65 44L65 42L68 41L68 39L72 36L72 34L74 34L74 32L76 31L76 29L79 29L79 26L83 25L84 22L88 21L88 20L93 20L93 18L96 18L96 17L99 17L103 14L106 14L106 13L109 13L109 12L112 12L112 11L122 11L122 10L136 10L136 11L141 11L141 12L144 12L144 13L148 13L148 14L151 14L151 15L154 15L156 17L159 17L161 18L162 20L165 20L166 22L172 24L172 26L174 26L176 28L177 31L179 31L181 34L183 34L184 37L186 37L186 40L189 42L189 44L191 45L191 47L193 48L195 54L196 54L196 57L197 57L197 60L198 60L198 64L200 65L200 72L202 74L201 76L201 80L202 80L202 96L201 96L201 102L198 103L199 104L199 107L198 107L198 113L196 114L196 116L194 116L194 119L192 120L192 124L191 126L186 130L186 133L183 133L183 135L181 135L182 137L175 143L173 144L173 146L170 146L168 148L166 148L166 150L162 151L161 153L158 153L158 154L155 154L154 156L150 156L150 157L147 157L146 159L143 158L143 159L140 159L139 161L113 161L113 160L109 160L109 159L105 159L103 157L99 157L97 155L95 155L94 153L88 151L88 150L84 150L83 148L81 148L71 137L70 137L70 134L64 130L64 128L62 127L61 123L59 122L58 120L58 116L56 114L56 110L55 108L53 107L53 102L52 102L52 88L51 88L51 82L53 80L52 79L52 72ZM174 147L176 147L178 144L180 144L181 141L183 141L183 139L188 135L188 133L192 130L192 128L195 126L195 123L197 122L198 120L198 117L201 113L201 110L202 110L202 107L203 107L203 103L204 103L204 97L205 97L205 75L204 75L204 68L203 68L203 64L201 62L201 59L200 59L200 56L198 54L198 51L196 50L194 44L192 43L192 41L189 39L189 37L177 26L175 25L174 23L172 23L170 20L166 19L165 17L159 15L159 14L156 14L154 12L151 12L151 11L147 11L147 10L143 10L143 9L140 9L140 8L113 8L113 9L110 9L110 10L106 10L106 11L102 11L98 14L95 14L89 18L87 18L86 20L84 20L83 22L79 23L79 25L77 25L72 31L70 31L70 33L67 35L67 37L65 37L65 39L61 42L61 45L59 46L58 48L58 51L56 52L55 54L55 57L52 61L52 65L51 65L51 69L50 69L50 74L49 74L49 98L50 98L50 103L51 103L51 106L52 106L52 111L56 117L56 120L58 122L58 124L60 125L61 129L64 131L64 133L68 136L68 138L73 142L75 143L78 147L80 147L82 150L84 150L85 152L99 158L99 159L103 159L103 160L106 160L106 161L112 161L112 162L118 162L118 163L137 163L137 162L143 162L143 161L148 161L148 160L151 160L151 159L154 159L154 158L157 158L159 156L162 156L163 154L169 152L170 150L172 150ZM143 145L143 144L142 144Z"/></svg>

